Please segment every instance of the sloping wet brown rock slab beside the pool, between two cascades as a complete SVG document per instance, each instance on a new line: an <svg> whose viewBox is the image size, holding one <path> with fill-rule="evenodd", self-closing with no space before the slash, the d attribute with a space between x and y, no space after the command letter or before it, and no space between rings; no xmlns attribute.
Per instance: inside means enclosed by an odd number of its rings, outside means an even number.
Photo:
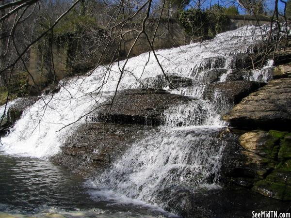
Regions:
<svg viewBox="0 0 291 218"><path fill-rule="evenodd" d="M90 177L104 170L116 157L124 154L130 143L143 136L147 128L150 127L83 124L66 140L61 152L51 157L51 160Z"/></svg>

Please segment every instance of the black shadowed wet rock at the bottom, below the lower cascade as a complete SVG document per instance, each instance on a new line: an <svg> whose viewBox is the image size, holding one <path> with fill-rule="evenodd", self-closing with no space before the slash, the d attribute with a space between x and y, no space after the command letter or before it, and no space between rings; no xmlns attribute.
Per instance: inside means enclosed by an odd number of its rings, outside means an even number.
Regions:
<svg viewBox="0 0 291 218"><path fill-rule="evenodd" d="M161 190L165 209L183 218L249 218L252 212L286 212L290 202L266 198L244 187L221 187L195 191L173 187Z"/></svg>

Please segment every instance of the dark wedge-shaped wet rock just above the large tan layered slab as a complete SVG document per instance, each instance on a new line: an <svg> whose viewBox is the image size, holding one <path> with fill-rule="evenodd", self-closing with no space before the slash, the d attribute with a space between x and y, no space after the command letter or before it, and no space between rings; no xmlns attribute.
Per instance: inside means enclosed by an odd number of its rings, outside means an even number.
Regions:
<svg viewBox="0 0 291 218"><path fill-rule="evenodd" d="M253 81L228 81L208 84L204 90L203 98L210 101L220 94L228 103L237 104L242 98L256 91L265 83Z"/></svg>

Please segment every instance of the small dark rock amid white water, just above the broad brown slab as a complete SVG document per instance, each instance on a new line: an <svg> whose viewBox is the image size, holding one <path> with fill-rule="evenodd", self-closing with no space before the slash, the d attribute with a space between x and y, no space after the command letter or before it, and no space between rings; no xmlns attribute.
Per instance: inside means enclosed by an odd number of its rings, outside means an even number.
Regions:
<svg viewBox="0 0 291 218"><path fill-rule="evenodd" d="M166 74L166 76L168 79L163 74L160 74L156 77L145 78L141 81L139 88L162 89L164 87L180 88L193 85L193 79L191 78L181 77L177 74Z"/></svg>

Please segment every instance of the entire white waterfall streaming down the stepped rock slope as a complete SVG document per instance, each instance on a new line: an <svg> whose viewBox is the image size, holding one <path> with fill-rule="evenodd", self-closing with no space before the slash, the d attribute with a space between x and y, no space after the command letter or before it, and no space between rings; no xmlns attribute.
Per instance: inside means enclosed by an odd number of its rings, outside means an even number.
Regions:
<svg viewBox="0 0 291 218"><path fill-rule="evenodd" d="M220 106L202 100L206 85L204 74L213 68L231 70L238 64L243 67L246 56L237 54L258 50L262 31L267 32L268 27L260 30L245 26L218 34L203 44L156 51L166 73L194 81L188 88L163 88L198 99L195 104L166 109L165 125L136 141L94 182L129 198L158 205L163 203L156 200L157 194L169 186L216 187L225 146L225 141L219 140L216 134L226 123L217 113ZM118 90L140 87L143 79L162 74L153 55L149 61L147 58L148 54L142 54L129 59ZM119 65L124 63L121 61ZM255 74L245 79L266 80ZM43 99L24 111L11 133L2 139L1 148L6 153L22 156L48 158L55 155L66 137L85 122L86 115L113 94L120 75L118 64L114 63L110 67L98 67L83 77L62 81L64 87L59 93L43 95ZM221 75L220 81L225 81L226 76Z"/></svg>

